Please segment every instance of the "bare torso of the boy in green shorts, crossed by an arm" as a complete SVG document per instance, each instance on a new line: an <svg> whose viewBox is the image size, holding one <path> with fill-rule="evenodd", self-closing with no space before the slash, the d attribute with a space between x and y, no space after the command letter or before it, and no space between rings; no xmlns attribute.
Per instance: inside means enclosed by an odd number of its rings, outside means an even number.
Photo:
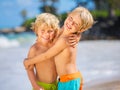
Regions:
<svg viewBox="0 0 120 90"><path fill-rule="evenodd" d="M48 48L39 47L36 49L36 55L45 52ZM45 83L55 82L57 78L57 72L55 67L55 62L51 58L50 60L45 60L43 62L35 64L36 77L38 81Z"/></svg>

